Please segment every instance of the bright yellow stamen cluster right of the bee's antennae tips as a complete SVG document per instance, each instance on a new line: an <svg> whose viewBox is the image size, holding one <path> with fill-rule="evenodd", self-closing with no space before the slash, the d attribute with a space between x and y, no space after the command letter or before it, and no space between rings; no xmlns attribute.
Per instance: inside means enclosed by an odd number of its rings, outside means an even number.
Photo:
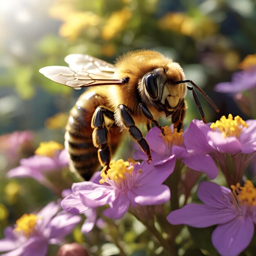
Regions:
<svg viewBox="0 0 256 256"><path fill-rule="evenodd" d="M233 116L231 114L229 114L228 118L222 116L220 121L218 120L210 126L212 130L222 132L223 137L237 138L240 136L243 128L247 127L248 125L241 117L236 116L233 120Z"/></svg>

